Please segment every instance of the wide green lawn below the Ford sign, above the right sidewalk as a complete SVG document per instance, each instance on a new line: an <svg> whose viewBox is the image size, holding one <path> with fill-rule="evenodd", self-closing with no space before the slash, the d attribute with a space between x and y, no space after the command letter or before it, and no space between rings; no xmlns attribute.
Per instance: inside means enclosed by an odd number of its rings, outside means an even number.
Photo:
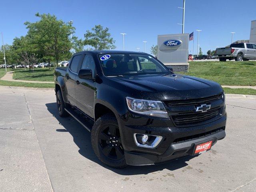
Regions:
<svg viewBox="0 0 256 192"><path fill-rule="evenodd" d="M202 61L189 62L188 72L182 73L221 85L256 86L256 61Z"/></svg>

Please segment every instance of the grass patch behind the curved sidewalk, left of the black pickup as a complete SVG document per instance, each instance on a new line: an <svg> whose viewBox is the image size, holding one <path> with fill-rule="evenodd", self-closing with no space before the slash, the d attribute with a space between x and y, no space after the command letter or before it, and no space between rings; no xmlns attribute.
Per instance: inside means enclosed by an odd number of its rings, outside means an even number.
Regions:
<svg viewBox="0 0 256 192"><path fill-rule="evenodd" d="M54 81L54 68L34 68L34 72L29 69L15 69L13 78L28 81Z"/></svg>

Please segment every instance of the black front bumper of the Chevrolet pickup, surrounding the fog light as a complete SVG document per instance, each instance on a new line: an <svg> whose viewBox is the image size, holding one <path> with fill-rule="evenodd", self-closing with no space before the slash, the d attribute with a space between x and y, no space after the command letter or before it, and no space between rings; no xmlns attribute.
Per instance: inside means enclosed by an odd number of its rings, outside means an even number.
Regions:
<svg viewBox="0 0 256 192"><path fill-rule="evenodd" d="M226 136L226 114L213 122L190 127L175 127L170 119L148 119L132 114L121 117L119 121L126 163L134 166L159 164L193 155L195 143L212 140L214 145ZM136 145L134 133L163 138L156 148L142 148Z"/></svg>

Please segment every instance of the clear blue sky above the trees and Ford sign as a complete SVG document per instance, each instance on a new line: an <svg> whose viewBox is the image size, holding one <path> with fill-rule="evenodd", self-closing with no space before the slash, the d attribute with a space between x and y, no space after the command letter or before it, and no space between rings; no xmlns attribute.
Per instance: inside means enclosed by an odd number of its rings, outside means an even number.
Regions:
<svg viewBox="0 0 256 192"><path fill-rule="evenodd" d="M0 31L4 43L12 44L14 37L26 35L24 22L35 22L36 12L55 14L65 22L73 20L76 36L84 38L86 30L96 24L110 29L116 40L116 49L122 50L122 35L125 32L125 50L150 53L157 44L158 34L182 32L183 0L24 0L1 2ZM185 33L194 31L194 54L197 50L197 32L200 32L200 47L203 52L226 46L235 40L250 38L251 20L256 20L256 0L186 0ZM193 43L190 41L189 53Z"/></svg>

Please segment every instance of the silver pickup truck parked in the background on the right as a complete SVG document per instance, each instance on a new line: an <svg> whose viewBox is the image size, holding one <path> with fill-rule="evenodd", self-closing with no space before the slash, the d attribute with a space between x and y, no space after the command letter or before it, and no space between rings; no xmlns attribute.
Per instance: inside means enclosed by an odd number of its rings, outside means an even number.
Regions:
<svg viewBox="0 0 256 192"><path fill-rule="evenodd" d="M236 43L231 44L230 47L217 48L216 55L220 61L236 60L248 61L249 59L256 59L256 45L252 43Z"/></svg>

